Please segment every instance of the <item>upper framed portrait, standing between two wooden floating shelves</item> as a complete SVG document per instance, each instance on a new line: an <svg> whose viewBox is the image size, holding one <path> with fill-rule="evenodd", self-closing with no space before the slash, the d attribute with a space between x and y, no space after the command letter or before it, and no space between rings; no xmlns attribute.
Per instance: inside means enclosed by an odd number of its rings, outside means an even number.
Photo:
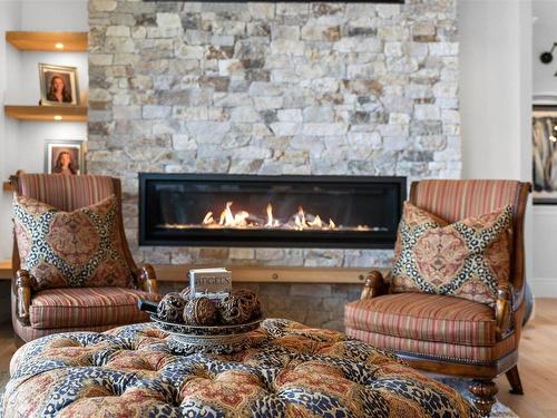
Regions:
<svg viewBox="0 0 557 418"><path fill-rule="evenodd" d="M40 104L42 106L78 106L79 84L76 67L39 64Z"/></svg>

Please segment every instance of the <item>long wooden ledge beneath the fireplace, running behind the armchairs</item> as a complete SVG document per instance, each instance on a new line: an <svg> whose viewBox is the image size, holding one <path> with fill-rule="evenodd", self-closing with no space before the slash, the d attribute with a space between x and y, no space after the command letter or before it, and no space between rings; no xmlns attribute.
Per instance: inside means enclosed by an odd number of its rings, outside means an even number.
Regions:
<svg viewBox="0 0 557 418"><path fill-rule="evenodd" d="M201 265L154 265L157 279L162 282L186 282L189 269L201 269ZM373 270L369 269L340 269L340 268L283 268L283 266L226 266L232 271L235 282L260 283L363 283L365 275ZM379 269L383 273L387 270ZM11 279L11 261L0 261L0 280Z"/></svg>

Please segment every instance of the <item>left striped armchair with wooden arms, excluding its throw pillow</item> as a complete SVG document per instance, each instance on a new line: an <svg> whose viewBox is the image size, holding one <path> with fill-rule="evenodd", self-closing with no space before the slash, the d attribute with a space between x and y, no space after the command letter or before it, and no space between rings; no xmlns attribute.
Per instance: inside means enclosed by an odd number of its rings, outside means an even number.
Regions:
<svg viewBox="0 0 557 418"><path fill-rule="evenodd" d="M57 288L33 291L30 273L21 269L18 242L12 253L12 324L18 343L66 331L105 331L116 325L145 322L139 298L159 299L155 270L140 269L128 247L121 214L121 187L118 178L95 175L18 174L10 178L17 195L32 197L58 210L72 212L111 195L117 200L117 237L133 274L129 288Z"/></svg>

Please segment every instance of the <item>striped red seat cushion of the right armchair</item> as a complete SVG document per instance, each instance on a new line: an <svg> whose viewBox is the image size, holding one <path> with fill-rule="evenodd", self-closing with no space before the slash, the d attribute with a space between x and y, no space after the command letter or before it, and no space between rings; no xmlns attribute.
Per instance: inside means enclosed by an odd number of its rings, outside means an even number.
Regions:
<svg viewBox="0 0 557 418"><path fill-rule="evenodd" d="M427 293L387 294L350 302L344 324L352 330L431 342L490 347L494 310L466 299Z"/></svg>

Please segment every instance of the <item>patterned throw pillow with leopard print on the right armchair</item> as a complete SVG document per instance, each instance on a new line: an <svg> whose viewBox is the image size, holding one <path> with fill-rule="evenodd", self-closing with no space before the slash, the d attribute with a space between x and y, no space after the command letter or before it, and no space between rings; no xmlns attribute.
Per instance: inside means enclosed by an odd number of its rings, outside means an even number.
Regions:
<svg viewBox="0 0 557 418"><path fill-rule="evenodd" d="M494 304L509 280L511 206L448 224L404 204L394 247L393 292L448 294Z"/></svg>

